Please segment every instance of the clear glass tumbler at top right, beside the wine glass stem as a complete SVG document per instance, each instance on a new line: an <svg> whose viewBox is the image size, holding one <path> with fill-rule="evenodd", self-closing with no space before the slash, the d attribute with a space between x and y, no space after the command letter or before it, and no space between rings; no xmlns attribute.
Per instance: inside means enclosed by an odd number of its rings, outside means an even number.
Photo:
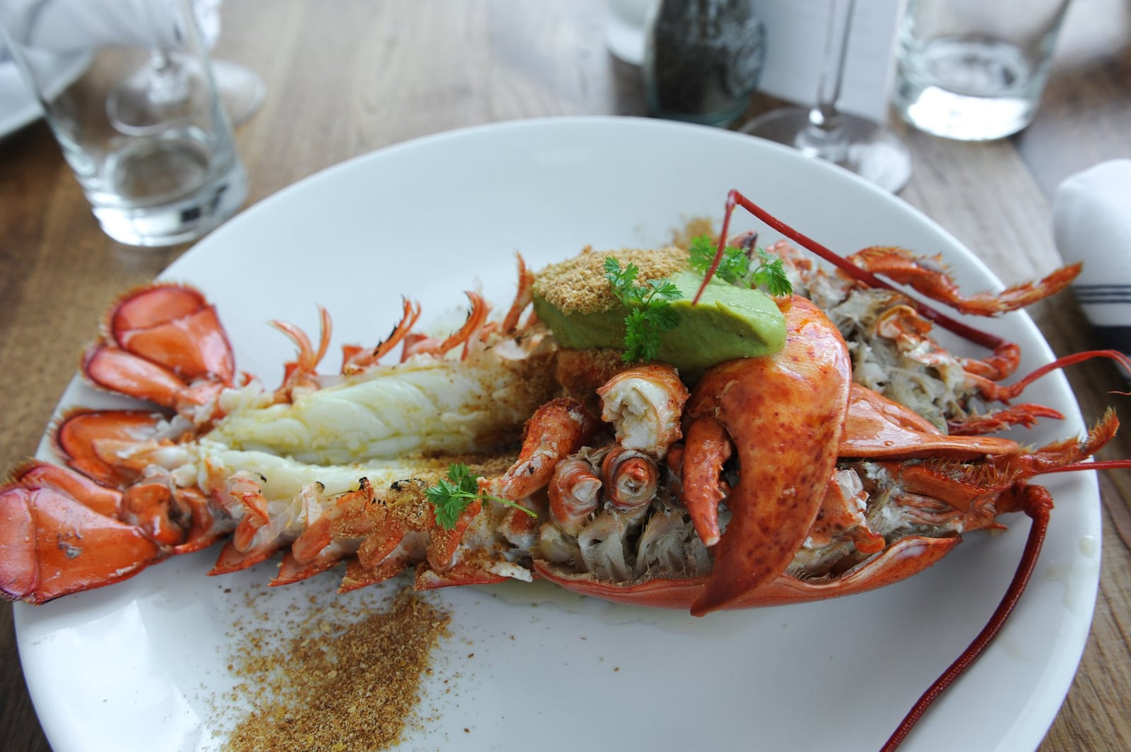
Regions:
<svg viewBox="0 0 1131 752"><path fill-rule="evenodd" d="M915 128L964 141L1036 114L1069 0L908 0L892 97Z"/></svg>

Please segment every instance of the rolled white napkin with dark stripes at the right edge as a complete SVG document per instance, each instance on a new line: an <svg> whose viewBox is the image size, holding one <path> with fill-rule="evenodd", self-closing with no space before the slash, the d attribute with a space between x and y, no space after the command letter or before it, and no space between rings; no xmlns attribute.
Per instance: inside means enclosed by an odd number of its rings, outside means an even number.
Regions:
<svg viewBox="0 0 1131 752"><path fill-rule="evenodd" d="M1131 159L1064 180L1053 233L1068 263L1083 262L1072 291L1105 347L1131 355Z"/></svg>

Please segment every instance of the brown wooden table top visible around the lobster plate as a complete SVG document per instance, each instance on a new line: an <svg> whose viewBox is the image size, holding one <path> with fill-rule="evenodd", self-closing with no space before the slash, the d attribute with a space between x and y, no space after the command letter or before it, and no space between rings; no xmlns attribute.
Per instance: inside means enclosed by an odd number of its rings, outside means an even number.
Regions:
<svg viewBox="0 0 1131 752"><path fill-rule="evenodd" d="M256 69L267 99L238 133L249 204L323 167L426 133L544 115L645 114L639 71L603 44L602 0L228 0L217 58ZM774 103L758 99L751 114ZM1036 121L992 143L899 126L915 167L903 198L1018 280L1059 264L1050 201L1067 175L1131 156L1131 6L1077 0ZM44 124L0 141L0 471L29 456L105 306L187 246L103 235ZM1095 347L1070 296L1037 306L1059 353ZM1114 403L1107 361L1069 378L1087 419ZM1131 431L1105 456L1131 457ZM1100 478L1095 622L1043 752L1131 749L1131 474ZM1054 519L1055 523L1055 519ZM62 690L61 690L62 691ZM0 746L50 749L0 605Z"/></svg>

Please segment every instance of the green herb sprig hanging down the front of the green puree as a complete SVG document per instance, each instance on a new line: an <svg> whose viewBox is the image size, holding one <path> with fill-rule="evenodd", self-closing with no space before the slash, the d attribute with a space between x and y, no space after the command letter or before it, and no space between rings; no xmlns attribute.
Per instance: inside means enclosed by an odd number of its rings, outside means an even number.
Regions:
<svg viewBox="0 0 1131 752"><path fill-rule="evenodd" d="M679 314L668 305L683 297L680 289L664 279L649 279L638 285L639 273L636 264L621 269L616 259L605 257L605 278L616 299L629 308L624 317L624 355L621 356L625 362L653 360L659 351L659 335L680 322Z"/></svg>

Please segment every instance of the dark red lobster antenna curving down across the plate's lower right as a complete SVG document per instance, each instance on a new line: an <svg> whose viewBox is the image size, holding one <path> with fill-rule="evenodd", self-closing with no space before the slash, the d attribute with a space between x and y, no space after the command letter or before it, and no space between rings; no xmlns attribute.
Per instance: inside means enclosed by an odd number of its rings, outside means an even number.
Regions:
<svg viewBox="0 0 1131 752"><path fill-rule="evenodd" d="M1033 489L1034 487L1029 487ZM939 699L939 696L948 687L950 687L956 679L958 679L962 672L969 668L975 661L977 661L985 649L993 641L998 632L1004 626L1005 620L1009 619L1009 614L1012 613L1013 606L1017 605L1018 600L1021 597L1021 593L1025 592L1025 586L1029 583L1029 576L1033 574L1033 569L1037 563L1037 557L1041 554L1041 546L1045 542L1045 532L1048 530L1048 513L1052 509L1052 499L1038 500L1035 505L1027 505L1025 508L1025 514L1029 516L1033 521L1029 526L1029 535L1025 541L1025 551L1021 553L1021 560L1017 565L1017 571L1013 572L1013 579L1009 584L1009 588L1001 598L1001 603L998 604L998 609L990 617L986 626L982 628L978 636L974 638L974 641L962 650L962 654L950 664L950 666L942 672L942 674L931 684L930 689L923 692L923 696L912 706L912 709L907 711L904 719L899 722L899 726L892 732L891 736L880 749L880 752L892 752L898 747L904 738L906 738L908 732L915 726L926 712L927 708Z"/></svg>

